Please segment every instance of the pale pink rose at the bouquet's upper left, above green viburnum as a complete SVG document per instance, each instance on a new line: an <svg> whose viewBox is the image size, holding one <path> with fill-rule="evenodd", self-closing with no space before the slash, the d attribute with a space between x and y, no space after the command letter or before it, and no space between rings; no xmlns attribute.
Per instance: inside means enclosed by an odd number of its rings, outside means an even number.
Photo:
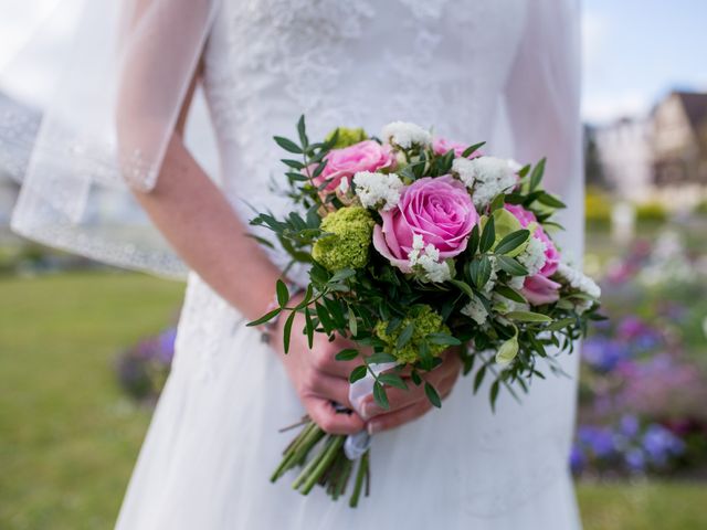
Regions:
<svg viewBox="0 0 707 530"><path fill-rule="evenodd" d="M374 140L363 140L342 149L331 149L326 157L327 165L324 171L314 180L317 186L329 181L327 191L334 191L347 179L359 171L378 171L383 168L392 168L395 158L390 146L381 146Z"/></svg>

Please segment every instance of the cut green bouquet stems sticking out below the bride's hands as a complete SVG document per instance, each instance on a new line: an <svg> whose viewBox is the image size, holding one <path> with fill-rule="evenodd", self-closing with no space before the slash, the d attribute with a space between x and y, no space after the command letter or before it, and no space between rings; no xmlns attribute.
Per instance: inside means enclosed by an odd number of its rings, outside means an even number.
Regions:
<svg viewBox="0 0 707 530"><path fill-rule="evenodd" d="M283 452L283 459L271 476L271 481L278 480L295 467L304 466L292 485L293 489L302 495L309 495L318 484L325 488L327 495L337 500L346 492L356 467L356 460L350 460L346 456L345 441L346 436L327 434L309 420ZM313 452L314 456L310 456ZM369 452L366 452L358 460L354 491L349 499L351 508L358 506L363 486L368 496L369 475Z"/></svg>

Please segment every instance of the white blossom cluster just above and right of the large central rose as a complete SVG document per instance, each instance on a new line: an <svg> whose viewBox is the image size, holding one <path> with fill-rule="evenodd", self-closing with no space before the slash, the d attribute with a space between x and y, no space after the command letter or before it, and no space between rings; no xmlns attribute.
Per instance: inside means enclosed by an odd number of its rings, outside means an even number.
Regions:
<svg viewBox="0 0 707 530"><path fill-rule="evenodd" d="M477 209L483 209L517 182L516 167L513 160L495 157L455 158L452 162L452 171L469 190L473 189L472 199Z"/></svg>

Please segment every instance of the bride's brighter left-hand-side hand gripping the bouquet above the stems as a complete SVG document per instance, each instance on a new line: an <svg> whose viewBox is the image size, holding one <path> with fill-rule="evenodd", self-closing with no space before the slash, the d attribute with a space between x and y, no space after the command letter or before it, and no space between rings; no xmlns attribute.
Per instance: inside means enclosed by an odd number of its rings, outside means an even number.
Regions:
<svg viewBox="0 0 707 530"><path fill-rule="evenodd" d="M300 297L294 298L298 301ZM330 434L354 434L366 428L366 424L356 413L337 412L333 402L352 409L349 402L348 375L360 361L337 361L335 356L351 343L345 339L329 342L324 333L314 335L314 344L309 349L307 337L302 333L305 326L303 315L295 317L289 339L289 352L284 352L283 326L286 316L282 315L277 328L273 331L273 346L279 353L287 375L293 382L307 414L324 431Z"/></svg>

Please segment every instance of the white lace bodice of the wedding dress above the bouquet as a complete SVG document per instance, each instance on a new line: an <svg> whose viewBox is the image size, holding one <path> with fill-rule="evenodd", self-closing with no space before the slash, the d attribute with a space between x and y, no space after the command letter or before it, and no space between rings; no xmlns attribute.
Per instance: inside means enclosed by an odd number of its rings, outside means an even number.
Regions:
<svg viewBox="0 0 707 530"><path fill-rule="evenodd" d="M284 182L272 136L303 113L313 138L402 119L490 139L524 12L521 0L224 0L204 87L236 210L287 211L270 186Z"/></svg>

